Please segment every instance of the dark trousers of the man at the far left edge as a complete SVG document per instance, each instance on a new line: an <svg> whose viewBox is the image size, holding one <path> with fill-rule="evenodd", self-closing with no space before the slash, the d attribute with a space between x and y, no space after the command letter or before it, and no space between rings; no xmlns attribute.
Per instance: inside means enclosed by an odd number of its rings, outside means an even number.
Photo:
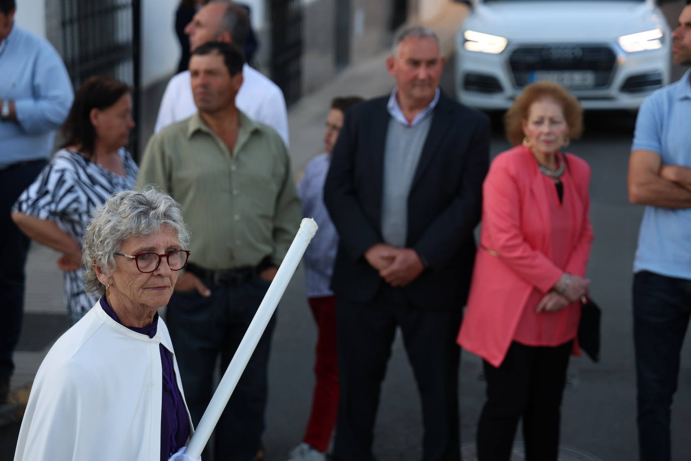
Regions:
<svg viewBox="0 0 691 461"><path fill-rule="evenodd" d="M46 160L37 160L0 170L0 377L9 377L15 369L12 352L21 332L24 263L29 250L29 238L12 221L12 205L45 166Z"/></svg>

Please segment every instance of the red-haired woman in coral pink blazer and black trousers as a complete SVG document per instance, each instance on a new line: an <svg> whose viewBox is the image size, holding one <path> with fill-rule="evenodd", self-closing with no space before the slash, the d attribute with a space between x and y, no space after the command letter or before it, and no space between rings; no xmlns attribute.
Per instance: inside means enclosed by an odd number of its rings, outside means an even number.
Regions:
<svg viewBox="0 0 691 461"><path fill-rule="evenodd" d="M588 164L560 149L583 127L557 84L527 86L506 117L513 149L483 185L482 231L458 344L484 359L478 460L509 460L523 420L527 460L557 460L569 355L593 239ZM518 144L518 145L517 145Z"/></svg>

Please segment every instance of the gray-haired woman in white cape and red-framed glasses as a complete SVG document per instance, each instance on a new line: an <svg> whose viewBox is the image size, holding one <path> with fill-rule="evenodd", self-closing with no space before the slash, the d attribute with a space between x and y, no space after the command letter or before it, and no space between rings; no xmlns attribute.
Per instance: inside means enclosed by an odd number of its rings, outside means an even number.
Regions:
<svg viewBox="0 0 691 461"><path fill-rule="evenodd" d="M167 460L193 431L168 330L168 303L187 263L175 200L122 191L84 236L94 307L50 348L26 406L17 460Z"/></svg>

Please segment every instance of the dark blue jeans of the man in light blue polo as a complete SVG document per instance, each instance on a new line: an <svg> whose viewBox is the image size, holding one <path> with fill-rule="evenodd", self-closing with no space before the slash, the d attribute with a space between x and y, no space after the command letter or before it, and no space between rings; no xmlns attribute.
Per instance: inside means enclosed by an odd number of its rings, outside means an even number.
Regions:
<svg viewBox="0 0 691 461"><path fill-rule="evenodd" d="M641 461L670 461L670 407L691 313L691 280L634 276L634 346Z"/></svg>

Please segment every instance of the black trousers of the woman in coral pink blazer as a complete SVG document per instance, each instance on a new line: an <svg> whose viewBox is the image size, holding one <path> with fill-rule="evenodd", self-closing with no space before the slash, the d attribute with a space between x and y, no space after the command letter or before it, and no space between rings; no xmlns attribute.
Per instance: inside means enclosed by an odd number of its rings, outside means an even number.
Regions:
<svg viewBox="0 0 691 461"><path fill-rule="evenodd" d="M527 461L556 461L560 407L573 341L557 347L513 342L499 368L484 361L487 399L477 426L477 459L509 461L523 419Z"/></svg>

